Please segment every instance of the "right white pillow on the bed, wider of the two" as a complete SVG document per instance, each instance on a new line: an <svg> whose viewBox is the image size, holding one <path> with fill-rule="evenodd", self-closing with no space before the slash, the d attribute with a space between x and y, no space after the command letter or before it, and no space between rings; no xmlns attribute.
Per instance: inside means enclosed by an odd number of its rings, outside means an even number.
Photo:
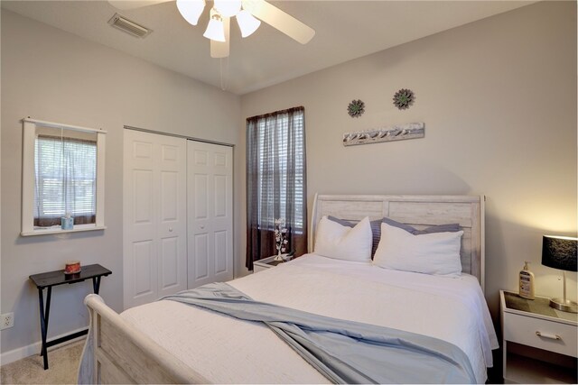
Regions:
<svg viewBox="0 0 578 385"><path fill-rule="evenodd" d="M458 277L462 234L463 231L414 235L382 223L373 263L393 270Z"/></svg>

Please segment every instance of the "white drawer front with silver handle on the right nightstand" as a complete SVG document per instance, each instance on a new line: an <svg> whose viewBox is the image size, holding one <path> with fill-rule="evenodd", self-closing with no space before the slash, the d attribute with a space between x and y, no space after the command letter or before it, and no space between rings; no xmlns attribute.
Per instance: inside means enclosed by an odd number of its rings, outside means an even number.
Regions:
<svg viewBox="0 0 578 385"><path fill-rule="evenodd" d="M542 336L536 335L536 332ZM560 339L555 339L556 335ZM550 352L578 356L578 334L574 325L505 312L504 339Z"/></svg>

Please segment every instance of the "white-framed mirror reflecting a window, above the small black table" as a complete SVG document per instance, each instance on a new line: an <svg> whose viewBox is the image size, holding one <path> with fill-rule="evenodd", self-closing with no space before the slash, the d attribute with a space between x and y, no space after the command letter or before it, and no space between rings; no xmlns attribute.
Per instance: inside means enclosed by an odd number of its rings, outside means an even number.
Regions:
<svg viewBox="0 0 578 385"><path fill-rule="evenodd" d="M105 132L24 119L22 234L104 228ZM61 218L73 217L62 230Z"/></svg>

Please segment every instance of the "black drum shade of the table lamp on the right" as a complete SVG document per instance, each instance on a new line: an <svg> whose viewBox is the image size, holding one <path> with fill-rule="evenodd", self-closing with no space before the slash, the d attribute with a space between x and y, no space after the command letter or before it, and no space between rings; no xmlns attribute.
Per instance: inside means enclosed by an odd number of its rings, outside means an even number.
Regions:
<svg viewBox="0 0 578 385"><path fill-rule="evenodd" d="M550 268L576 271L576 243L578 238L544 235L542 264Z"/></svg>

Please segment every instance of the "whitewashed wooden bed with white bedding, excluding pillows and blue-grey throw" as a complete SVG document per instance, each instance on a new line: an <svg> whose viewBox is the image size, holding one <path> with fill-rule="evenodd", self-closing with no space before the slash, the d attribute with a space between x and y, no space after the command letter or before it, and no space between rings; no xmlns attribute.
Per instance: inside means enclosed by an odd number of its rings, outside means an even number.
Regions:
<svg viewBox="0 0 578 385"><path fill-rule="evenodd" d="M386 216L416 229L457 223L459 277L382 269L372 261L311 252L228 285L260 302L443 340L465 353L475 382L483 383L491 350L498 347L482 291L483 203L483 197L469 196L315 197L310 251L328 215L352 225ZM96 295L85 303L91 325L79 383L329 381L261 323L172 300L121 315ZM419 364L415 368L419 371Z"/></svg>

